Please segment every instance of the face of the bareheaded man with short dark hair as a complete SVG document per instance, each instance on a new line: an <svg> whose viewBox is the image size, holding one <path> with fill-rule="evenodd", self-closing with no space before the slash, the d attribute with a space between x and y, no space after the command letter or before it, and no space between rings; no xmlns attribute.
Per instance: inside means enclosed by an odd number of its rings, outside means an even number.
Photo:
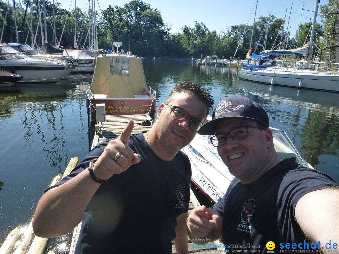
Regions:
<svg viewBox="0 0 339 254"><path fill-rule="evenodd" d="M180 107L192 118L203 122L206 119L206 104L191 93L176 94L174 99L168 102L170 105ZM189 124L191 118L183 121L173 118L173 107L161 104L158 109L157 121L155 122L156 136L162 149L178 152L188 145L197 134L191 130Z"/></svg>

